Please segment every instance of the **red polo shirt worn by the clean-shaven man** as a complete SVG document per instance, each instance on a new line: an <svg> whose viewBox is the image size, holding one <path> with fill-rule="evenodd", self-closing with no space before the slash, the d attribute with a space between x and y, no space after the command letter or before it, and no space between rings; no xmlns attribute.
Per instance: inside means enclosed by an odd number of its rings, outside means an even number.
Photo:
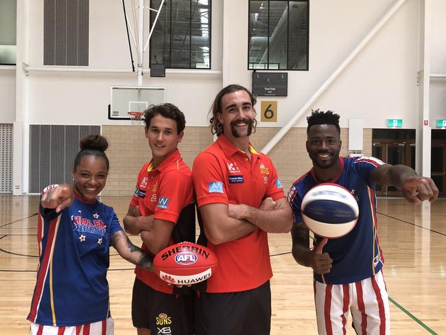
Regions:
<svg viewBox="0 0 446 335"><path fill-rule="evenodd" d="M143 216L154 214L156 219L176 224L180 212L192 201L191 170L183 162L177 149L155 169L152 161L143 166L138 174L137 187L130 205L139 206L139 211ZM194 218L191 224L195 227ZM174 240L171 239L169 245L172 244L174 244ZM141 248L143 251L150 253L145 244ZM134 273L139 280L154 290L172 293L173 286L167 285L155 273L139 267L135 268Z"/></svg>

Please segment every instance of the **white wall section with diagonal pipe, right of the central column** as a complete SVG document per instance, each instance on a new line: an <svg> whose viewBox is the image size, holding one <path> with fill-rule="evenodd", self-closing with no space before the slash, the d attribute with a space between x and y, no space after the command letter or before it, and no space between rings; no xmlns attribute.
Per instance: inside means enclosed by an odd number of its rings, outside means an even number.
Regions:
<svg viewBox="0 0 446 335"><path fill-rule="evenodd" d="M393 3L310 1L309 71L288 71L288 97L273 99L279 101L274 125L283 126L307 102ZM231 16L228 34L237 36L228 38L228 45L224 45L231 50L227 82L250 87L251 71L246 69L248 4L225 0L224 5L230 7L225 10L225 17ZM342 127L348 126L351 117L364 117L366 127L385 128L386 118L392 116L403 118L405 127L414 128L417 21L418 1L407 0L312 108L337 111ZM306 126L305 117L296 126Z"/></svg>

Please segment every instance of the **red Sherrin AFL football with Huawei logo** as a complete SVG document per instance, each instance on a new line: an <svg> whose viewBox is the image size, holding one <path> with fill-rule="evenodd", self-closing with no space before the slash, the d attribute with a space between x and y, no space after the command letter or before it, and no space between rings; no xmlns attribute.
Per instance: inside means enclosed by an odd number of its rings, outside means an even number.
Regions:
<svg viewBox="0 0 446 335"><path fill-rule="evenodd" d="M180 242L160 251L153 261L156 275L175 285L200 283L211 277L218 259L213 251L191 242Z"/></svg>

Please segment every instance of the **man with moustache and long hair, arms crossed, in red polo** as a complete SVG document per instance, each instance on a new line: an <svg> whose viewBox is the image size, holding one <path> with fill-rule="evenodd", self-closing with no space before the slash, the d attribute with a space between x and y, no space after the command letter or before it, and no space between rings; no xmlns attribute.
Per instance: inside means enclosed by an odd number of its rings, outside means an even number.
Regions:
<svg viewBox="0 0 446 335"><path fill-rule="evenodd" d="M271 160L249 142L255 102L243 86L222 89L211 118L218 140L193 162L204 228L198 243L213 250L219 263L198 294L197 335L270 334L267 233L289 232L292 213Z"/></svg>

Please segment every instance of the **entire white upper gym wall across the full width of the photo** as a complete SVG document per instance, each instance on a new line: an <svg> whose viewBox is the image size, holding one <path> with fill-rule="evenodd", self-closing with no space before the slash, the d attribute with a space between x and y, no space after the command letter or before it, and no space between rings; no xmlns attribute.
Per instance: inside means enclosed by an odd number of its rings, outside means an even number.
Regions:
<svg viewBox="0 0 446 335"><path fill-rule="evenodd" d="M430 71L445 74L446 1L406 0L312 108L340 113L342 127L348 126L350 118L364 119L366 128L386 128L387 118L403 119L404 128L419 126L423 116L417 108L417 76L424 47L419 38L424 24L423 1L430 5ZM17 74L0 71L0 122L23 122L23 166L27 166L29 124L130 124L107 119L110 86L137 84L136 73L130 73L120 0L90 1L87 69L110 73L73 68L69 69L73 72L53 72L43 67L43 2L17 1L21 8ZM309 71L288 71L288 97L259 98L259 104L261 100L279 102L278 122L259 126L285 125L396 2L311 0ZM222 86L238 83L251 88L252 71L247 69L248 1L213 0L211 42L211 71L203 74L167 69L166 78L146 74L143 79L144 86L166 88L167 101L185 112L188 126L207 126L211 102ZM29 70L28 76L22 74L23 67ZM16 78L20 78L17 89ZM435 119L446 118L446 80L431 80L430 89L430 123L434 124ZM294 126L305 127L305 115Z"/></svg>

